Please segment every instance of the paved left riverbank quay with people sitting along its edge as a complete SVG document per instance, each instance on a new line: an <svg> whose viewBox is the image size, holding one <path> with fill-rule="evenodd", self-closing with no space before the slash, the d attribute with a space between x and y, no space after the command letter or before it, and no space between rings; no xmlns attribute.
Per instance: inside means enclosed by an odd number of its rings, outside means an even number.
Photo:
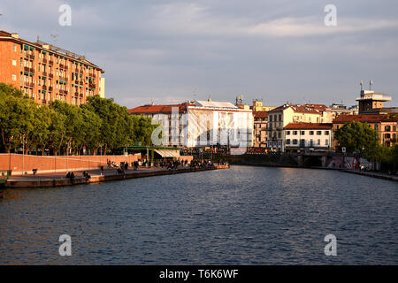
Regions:
<svg viewBox="0 0 398 283"><path fill-rule="evenodd" d="M11 176L4 184L4 188L12 187L62 187L80 184L94 184L110 180L126 180L134 178L144 178L161 175L171 175L187 172L201 172L218 169L228 169L229 165L215 165L207 168L179 168L179 169L157 169L142 167L139 170L127 170L124 173L118 173L115 169L92 170L88 171L90 179L83 176L83 172L74 172L73 180L65 178L65 174L37 174L27 176Z"/></svg>

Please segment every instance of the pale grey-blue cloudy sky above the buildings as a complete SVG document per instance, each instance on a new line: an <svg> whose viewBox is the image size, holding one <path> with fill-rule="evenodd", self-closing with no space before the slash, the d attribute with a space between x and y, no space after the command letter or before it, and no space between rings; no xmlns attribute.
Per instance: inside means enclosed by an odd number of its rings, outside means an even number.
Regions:
<svg viewBox="0 0 398 283"><path fill-rule="evenodd" d="M62 4L71 26L58 23ZM1 0L0 30L85 55L105 71L105 96L128 108L238 95L354 105L360 80L395 106L396 11L396 0Z"/></svg>

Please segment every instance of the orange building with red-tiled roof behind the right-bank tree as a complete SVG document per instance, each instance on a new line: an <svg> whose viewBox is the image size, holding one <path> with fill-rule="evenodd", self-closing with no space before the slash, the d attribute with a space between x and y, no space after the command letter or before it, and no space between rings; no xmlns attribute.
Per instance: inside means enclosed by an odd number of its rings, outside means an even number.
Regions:
<svg viewBox="0 0 398 283"><path fill-rule="evenodd" d="M333 120L333 132L340 129L344 124L356 121L366 123L379 134L381 145L390 147L397 140L398 115L364 114L364 115L341 115ZM333 147L336 149L338 141L333 140Z"/></svg>

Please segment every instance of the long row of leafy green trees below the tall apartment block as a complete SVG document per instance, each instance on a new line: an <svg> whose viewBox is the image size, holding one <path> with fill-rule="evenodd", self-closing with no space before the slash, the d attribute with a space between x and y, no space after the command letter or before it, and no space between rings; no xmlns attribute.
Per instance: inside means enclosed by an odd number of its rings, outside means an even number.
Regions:
<svg viewBox="0 0 398 283"><path fill-rule="evenodd" d="M79 155L86 149L107 154L134 142L151 144L155 127L151 119L131 115L113 99L90 96L80 106L58 100L39 105L0 83L1 152L25 148L27 154L49 149L54 155Z"/></svg>

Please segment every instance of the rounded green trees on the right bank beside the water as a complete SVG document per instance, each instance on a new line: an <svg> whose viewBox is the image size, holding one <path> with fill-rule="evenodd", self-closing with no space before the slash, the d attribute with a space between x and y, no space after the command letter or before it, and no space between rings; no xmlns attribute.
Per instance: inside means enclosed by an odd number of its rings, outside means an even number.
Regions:
<svg viewBox="0 0 398 283"><path fill-rule="evenodd" d="M398 169L398 145L381 145L379 134L366 123L347 123L334 133L334 138L339 149L345 147L348 153L360 153L368 160L381 162L385 168Z"/></svg>

